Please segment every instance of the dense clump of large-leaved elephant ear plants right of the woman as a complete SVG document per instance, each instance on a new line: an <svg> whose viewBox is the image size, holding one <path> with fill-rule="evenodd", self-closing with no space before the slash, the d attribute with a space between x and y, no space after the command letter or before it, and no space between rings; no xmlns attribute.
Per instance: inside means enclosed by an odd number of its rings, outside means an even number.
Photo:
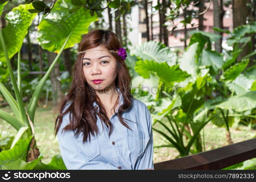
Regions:
<svg viewBox="0 0 256 182"><path fill-rule="evenodd" d="M129 56L128 60L135 63L128 64L135 70L133 84L143 91L135 94L136 98L150 107L153 126L159 124L153 130L165 142L154 148L174 147L179 153L177 158L202 152L203 148L205 151L201 130L210 121L226 127L230 144L229 128L233 123L240 122L240 117L255 118L255 74L252 68L246 71L246 66L256 51L241 60L238 56L256 33L256 22L226 33L230 34L227 43L232 50L222 54L212 49L212 42L221 36L203 31L190 32L189 46L181 56L155 41L131 49L133 57ZM155 88L157 94L152 92ZM143 96L144 92L148 94Z"/></svg>

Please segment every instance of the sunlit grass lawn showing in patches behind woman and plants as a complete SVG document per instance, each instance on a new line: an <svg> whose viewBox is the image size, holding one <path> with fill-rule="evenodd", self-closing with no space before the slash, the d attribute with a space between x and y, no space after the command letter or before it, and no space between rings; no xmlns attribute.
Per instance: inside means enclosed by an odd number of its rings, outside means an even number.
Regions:
<svg viewBox="0 0 256 182"><path fill-rule="evenodd" d="M56 115L54 115L54 108L51 106L51 102L49 102L48 106L48 108L37 108L34 122L35 139L37 141L39 151L44 155L44 158L42 159L42 162L44 163L49 163L54 155L60 154L57 137L54 137L54 123L58 113L56 112ZM1 108L1 110L11 113L10 107L4 107ZM163 127L158 123L156 123L154 127L165 132ZM14 136L17 133L17 131L9 123L2 119L0 119L0 130L8 131ZM230 131L231 138L234 143L256 137L256 130L251 130L242 125L239 125L238 129L230 128ZM201 132L201 136L203 136L203 130ZM162 140L162 136L155 131L153 131L153 138L154 146L166 145L166 143ZM218 128L211 122L204 127L204 138L206 151L227 145L225 128ZM174 159L177 155L178 152L175 148L155 148L154 163Z"/></svg>

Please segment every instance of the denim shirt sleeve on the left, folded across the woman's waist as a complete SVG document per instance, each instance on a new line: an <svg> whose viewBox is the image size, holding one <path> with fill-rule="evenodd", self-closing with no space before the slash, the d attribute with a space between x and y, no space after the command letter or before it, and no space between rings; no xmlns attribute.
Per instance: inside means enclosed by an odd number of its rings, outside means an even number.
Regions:
<svg viewBox="0 0 256 182"><path fill-rule="evenodd" d="M62 132L63 127L68 123L67 114L63 117L63 122L61 123L60 130L57 133L60 153L67 169L119 170L117 167L111 165L110 163L99 161L86 162L85 157L79 152L78 147L76 146L76 142L74 141L74 132L72 130Z"/></svg>

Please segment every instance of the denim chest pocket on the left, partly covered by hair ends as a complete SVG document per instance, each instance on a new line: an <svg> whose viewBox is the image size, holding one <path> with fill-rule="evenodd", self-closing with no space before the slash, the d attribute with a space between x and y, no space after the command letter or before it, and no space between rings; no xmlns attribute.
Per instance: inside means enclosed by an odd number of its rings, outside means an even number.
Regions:
<svg viewBox="0 0 256 182"><path fill-rule="evenodd" d="M97 157L101 152L99 150L99 142L97 135L92 136L91 140L89 141L89 138L87 138L87 141L83 143L83 135L79 135L78 137L78 150L80 153L83 154L83 156L89 160L92 161L95 157Z"/></svg>

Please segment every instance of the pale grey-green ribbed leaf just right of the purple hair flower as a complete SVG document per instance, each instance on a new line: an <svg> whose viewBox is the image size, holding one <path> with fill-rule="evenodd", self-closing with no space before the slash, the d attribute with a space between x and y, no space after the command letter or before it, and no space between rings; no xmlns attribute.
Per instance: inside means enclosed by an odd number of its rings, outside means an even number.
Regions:
<svg viewBox="0 0 256 182"><path fill-rule="evenodd" d="M176 53L157 41L147 41L141 45L136 45L131 49L130 54L143 60L153 60L158 63L166 62L169 66L176 64L177 61Z"/></svg>

